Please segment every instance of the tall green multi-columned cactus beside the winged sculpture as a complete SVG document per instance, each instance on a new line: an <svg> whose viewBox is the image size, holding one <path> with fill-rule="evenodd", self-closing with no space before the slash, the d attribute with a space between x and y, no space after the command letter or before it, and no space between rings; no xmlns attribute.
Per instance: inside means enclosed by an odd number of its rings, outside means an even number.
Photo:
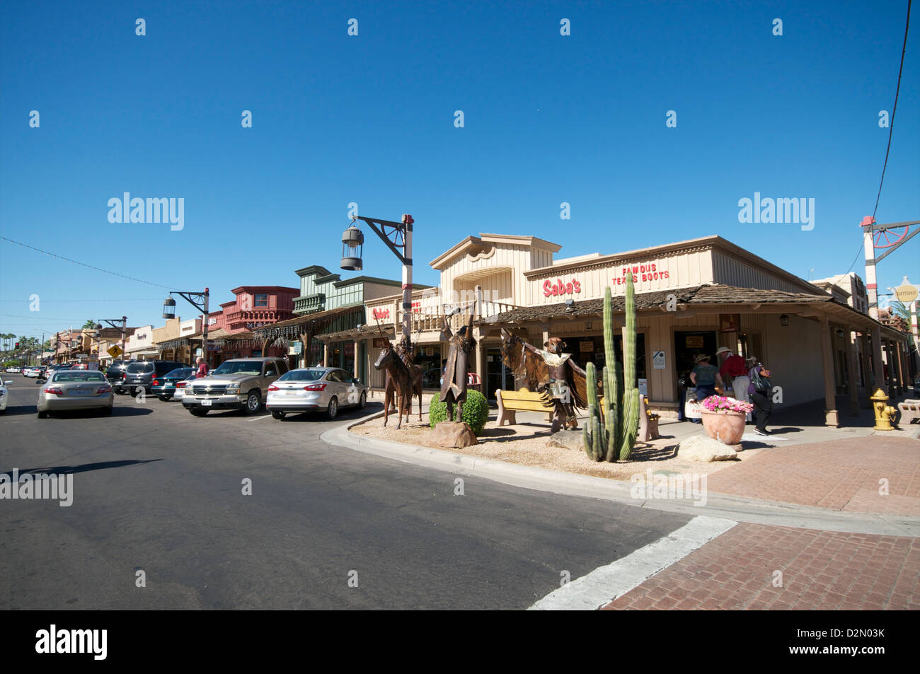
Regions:
<svg viewBox="0 0 920 674"><path fill-rule="evenodd" d="M597 399L597 369L585 368L588 383L588 420L584 425L584 451L593 461L626 461L638 432L638 387L636 382L636 291L632 272L627 272L626 328L623 331L621 369L614 349L613 300L610 288L604 292L604 405ZM626 394L624 394L626 389Z"/></svg>

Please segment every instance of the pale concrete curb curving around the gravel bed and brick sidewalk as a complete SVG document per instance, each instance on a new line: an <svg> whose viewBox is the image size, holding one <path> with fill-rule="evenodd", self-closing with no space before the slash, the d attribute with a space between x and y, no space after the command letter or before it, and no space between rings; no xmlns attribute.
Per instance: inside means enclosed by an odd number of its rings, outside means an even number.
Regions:
<svg viewBox="0 0 920 674"><path fill-rule="evenodd" d="M920 537L920 517L844 513L826 508L762 501L756 498L712 492L707 493L706 505L702 507L694 505L694 501L690 498L639 499L630 495L630 484L620 480L481 459L454 451L435 450L392 440L362 438L349 432L351 428L377 417L383 417L383 412L352 419L336 428L330 428L320 436L320 440L337 447L363 451L450 473L482 477L505 485L566 496L600 498L637 508L655 508L681 513L689 517L707 515L755 524L772 524L802 529Z"/></svg>

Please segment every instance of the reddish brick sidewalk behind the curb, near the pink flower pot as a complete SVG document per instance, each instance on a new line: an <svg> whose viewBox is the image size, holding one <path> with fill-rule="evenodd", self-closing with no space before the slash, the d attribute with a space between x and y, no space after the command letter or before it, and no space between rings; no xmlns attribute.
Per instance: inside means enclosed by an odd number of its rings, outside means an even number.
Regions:
<svg viewBox="0 0 920 674"><path fill-rule="evenodd" d="M888 480L888 496L879 494ZM920 442L869 436L776 447L708 476L720 494L920 516Z"/></svg>

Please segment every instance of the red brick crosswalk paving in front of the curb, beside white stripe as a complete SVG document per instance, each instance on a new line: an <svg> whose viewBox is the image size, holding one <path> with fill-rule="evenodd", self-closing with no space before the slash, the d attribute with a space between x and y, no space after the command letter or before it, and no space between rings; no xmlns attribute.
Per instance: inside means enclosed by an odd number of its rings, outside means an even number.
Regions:
<svg viewBox="0 0 920 674"><path fill-rule="evenodd" d="M604 610L916 611L918 578L918 539L740 523Z"/></svg>

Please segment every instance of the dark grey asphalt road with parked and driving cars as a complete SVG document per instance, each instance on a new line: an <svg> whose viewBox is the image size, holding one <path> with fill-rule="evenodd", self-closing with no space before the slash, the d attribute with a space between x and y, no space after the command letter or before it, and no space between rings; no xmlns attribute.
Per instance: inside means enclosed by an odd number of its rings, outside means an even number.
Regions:
<svg viewBox="0 0 920 674"><path fill-rule="evenodd" d="M39 419L4 377L0 472L73 474L74 500L0 500L0 609L524 609L689 520L335 448L324 417Z"/></svg>

